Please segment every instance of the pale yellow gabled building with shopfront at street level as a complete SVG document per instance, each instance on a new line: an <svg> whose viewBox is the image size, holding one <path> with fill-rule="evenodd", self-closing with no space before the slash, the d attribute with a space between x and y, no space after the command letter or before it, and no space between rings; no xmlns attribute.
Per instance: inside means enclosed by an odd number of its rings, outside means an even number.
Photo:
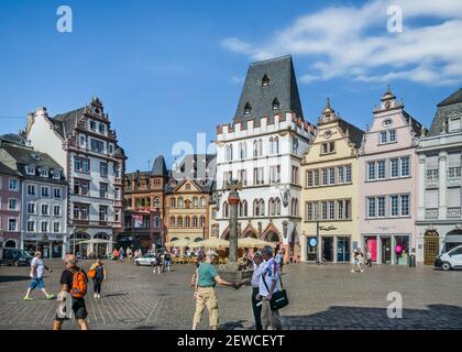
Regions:
<svg viewBox="0 0 462 352"><path fill-rule="evenodd" d="M363 134L341 119L328 100L302 161L302 262L321 256L333 263L351 262L352 251L361 243L358 151Z"/></svg>

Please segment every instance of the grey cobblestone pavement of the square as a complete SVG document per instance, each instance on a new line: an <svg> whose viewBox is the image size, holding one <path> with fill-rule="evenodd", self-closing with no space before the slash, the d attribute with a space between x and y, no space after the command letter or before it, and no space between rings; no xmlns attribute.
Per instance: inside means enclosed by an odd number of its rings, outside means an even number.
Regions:
<svg viewBox="0 0 462 352"><path fill-rule="evenodd" d="M61 261L48 261L50 292L56 293ZM90 262L80 263L88 270ZM462 272L431 267L373 266L350 273L348 265L296 264L284 267L283 282L290 305L284 308L285 329L462 329ZM176 265L172 273L153 274L132 263L107 263L108 280L100 299L86 298L90 329L190 329L194 265ZM51 329L57 307L37 289L33 301L22 297L28 267L0 266L0 329ZM403 297L403 318L389 319L387 295ZM252 329L250 288L219 287L222 329ZM77 329L74 320L65 329ZM208 329L208 315L201 324Z"/></svg>

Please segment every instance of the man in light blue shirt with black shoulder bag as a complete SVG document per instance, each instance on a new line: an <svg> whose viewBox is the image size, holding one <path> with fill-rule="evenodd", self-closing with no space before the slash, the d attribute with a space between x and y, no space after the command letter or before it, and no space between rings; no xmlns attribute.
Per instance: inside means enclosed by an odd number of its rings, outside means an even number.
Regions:
<svg viewBox="0 0 462 352"><path fill-rule="evenodd" d="M279 312L271 309L271 297L280 289L279 266L273 258L273 249L267 245L263 249L263 268L260 276L258 295L262 300L262 326L263 330L282 330Z"/></svg>

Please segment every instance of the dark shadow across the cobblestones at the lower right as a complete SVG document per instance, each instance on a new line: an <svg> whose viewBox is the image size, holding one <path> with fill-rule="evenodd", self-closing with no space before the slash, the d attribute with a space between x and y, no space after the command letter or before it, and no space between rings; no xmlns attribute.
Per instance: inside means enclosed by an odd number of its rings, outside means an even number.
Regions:
<svg viewBox="0 0 462 352"><path fill-rule="evenodd" d="M387 308L332 306L308 316L285 316L280 320L285 329L314 330L403 330L403 329L462 329L462 307L429 305L428 309L403 309L402 318L389 318ZM392 310L397 312L396 309Z"/></svg>

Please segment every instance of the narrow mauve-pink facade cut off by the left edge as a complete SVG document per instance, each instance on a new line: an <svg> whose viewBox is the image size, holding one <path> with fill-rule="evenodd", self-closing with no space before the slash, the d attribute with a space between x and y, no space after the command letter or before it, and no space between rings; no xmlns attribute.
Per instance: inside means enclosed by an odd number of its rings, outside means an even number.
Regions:
<svg viewBox="0 0 462 352"><path fill-rule="evenodd" d="M0 163L0 239L3 248L20 248L21 179Z"/></svg>

